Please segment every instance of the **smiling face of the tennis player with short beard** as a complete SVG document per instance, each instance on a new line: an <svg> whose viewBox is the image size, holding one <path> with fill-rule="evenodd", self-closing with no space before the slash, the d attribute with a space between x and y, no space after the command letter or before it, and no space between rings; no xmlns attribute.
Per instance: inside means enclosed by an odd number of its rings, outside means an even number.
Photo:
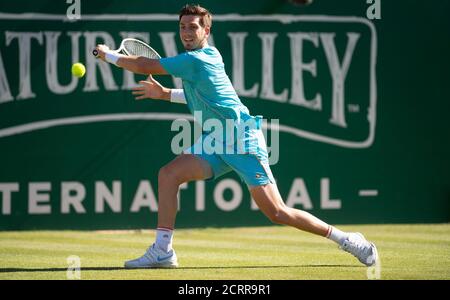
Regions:
<svg viewBox="0 0 450 300"><path fill-rule="evenodd" d="M186 15L180 20L180 38L186 50L202 48L209 36L209 28L200 25L200 17Z"/></svg>

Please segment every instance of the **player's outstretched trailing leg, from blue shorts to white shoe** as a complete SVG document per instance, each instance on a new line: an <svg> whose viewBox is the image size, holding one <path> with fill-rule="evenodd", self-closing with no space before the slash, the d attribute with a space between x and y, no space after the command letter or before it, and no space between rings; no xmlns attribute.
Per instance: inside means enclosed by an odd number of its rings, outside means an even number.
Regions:
<svg viewBox="0 0 450 300"><path fill-rule="evenodd" d="M267 147L260 130L248 131L244 142L241 141L248 154L222 155L221 158L244 179L256 204L272 222L330 238L362 263L376 263L377 249L362 234L343 232L308 212L284 204L270 170Z"/></svg>

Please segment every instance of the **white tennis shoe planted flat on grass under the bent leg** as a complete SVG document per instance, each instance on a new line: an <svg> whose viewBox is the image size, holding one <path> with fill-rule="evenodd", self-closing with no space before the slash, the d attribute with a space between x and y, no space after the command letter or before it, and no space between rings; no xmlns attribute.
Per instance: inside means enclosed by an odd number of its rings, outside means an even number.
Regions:
<svg viewBox="0 0 450 300"><path fill-rule="evenodd" d="M178 267L177 255L175 250L165 252L155 244L147 249L144 255L139 258L125 262L125 268L176 268Z"/></svg>

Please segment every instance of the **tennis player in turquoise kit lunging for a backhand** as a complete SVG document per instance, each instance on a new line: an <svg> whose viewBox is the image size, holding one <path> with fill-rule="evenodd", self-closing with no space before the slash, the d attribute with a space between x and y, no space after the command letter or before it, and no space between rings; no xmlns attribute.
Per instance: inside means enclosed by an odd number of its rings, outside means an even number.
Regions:
<svg viewBox="0 0 450 300"><path fill-rule="evenodd" d="M236 126L254 121L254 126L236 135L233 140L215 136L225 148L244 145L243 153L210 153L203 149L203 136L194 145L162 167L158 174L158 225L156 241L142 257L125 262L126 268L175 268L177 256L172 237L177 214L177 193L182 183L217 178L231 170L237 172L248 185L259 209L276 224L289 225L320 235L336 242L339 248L351 253L366 266L378 260L377 248L357 232L343 232L328 225L308 212L287 207L278 191L270 170L260 118L252 116L237 96L227 74L219 51L208 45L212 16L198 5L186 5L179 13L180 38L186 52L174 57L148 59L142 56L124 56L98 45L98 57L139 74L169 74L179 77L183 89L161 86L151 75L133 91L136 99L162 99L187 103L191 113L201 111L203 119L232 120ZM225 128L225 127L224 127ZM198 151L198 150L204 151ZM223 151L226 152L226 151Z"/></svg>

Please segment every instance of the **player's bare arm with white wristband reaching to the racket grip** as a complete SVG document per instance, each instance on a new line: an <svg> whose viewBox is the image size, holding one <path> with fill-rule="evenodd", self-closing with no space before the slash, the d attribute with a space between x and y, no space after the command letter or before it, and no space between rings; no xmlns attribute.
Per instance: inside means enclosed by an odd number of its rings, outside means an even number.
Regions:
<svg viewBox="0 0 450 300"><path fill-rule="evenodd" d="M163 68L159 59L150 59L143 56L126 56L116 54L109 50L108 46L97 45L96 50L98 51L97 57L115 64L125 70L136 74L155 74L163 75L167 74L166 70Z"/></svg>

